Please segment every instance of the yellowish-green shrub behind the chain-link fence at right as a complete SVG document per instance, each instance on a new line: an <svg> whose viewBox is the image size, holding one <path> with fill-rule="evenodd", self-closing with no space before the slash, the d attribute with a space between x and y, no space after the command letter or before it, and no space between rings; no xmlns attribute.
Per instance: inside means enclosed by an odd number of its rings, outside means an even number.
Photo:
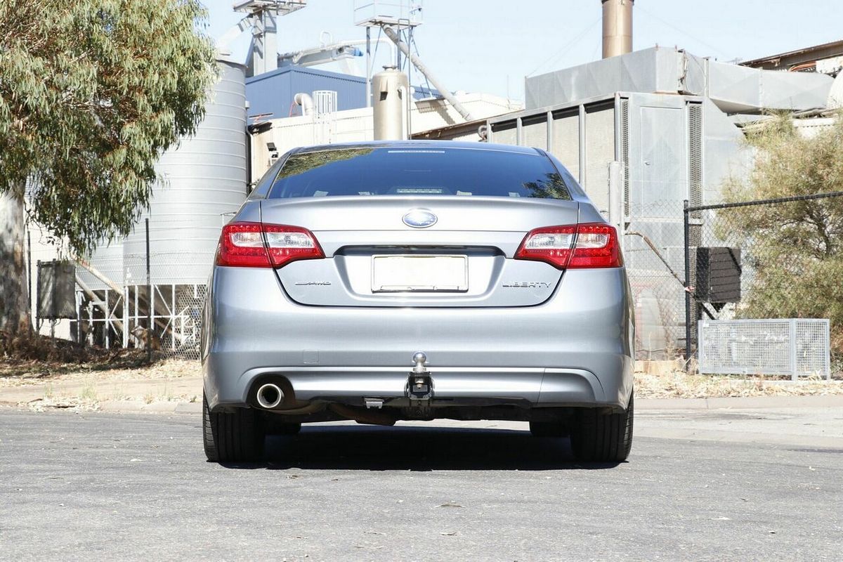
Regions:
<svg viewBox="0 0 843 562"><path fill-rule="evenodd" d="M843 116L816 136L787 116L748 136L757 149L749 179L726 185L728 202L843 191ZM744 286L744 318L830 318L843 351L843 197L719 211L722 238L740 240L754 279ZM727 236L728 234L728 236Z"/></svg>

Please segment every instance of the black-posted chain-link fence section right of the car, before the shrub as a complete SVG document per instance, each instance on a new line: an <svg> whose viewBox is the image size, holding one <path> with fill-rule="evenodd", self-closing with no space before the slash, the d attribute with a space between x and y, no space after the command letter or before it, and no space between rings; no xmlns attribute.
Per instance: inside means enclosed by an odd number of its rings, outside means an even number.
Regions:
<svg viewBox="0 0 843 562"><path fill-rule="evenodd" d="M685 356L699 320L828 318L843 357L843 192L685 206ZM755 325L755 324L753 324ZM753 336L763 347L775 326ZM813 338L817 345L824 335ZM758 351L764 353L763 349ZM835 368L836 367L836 368Z"/></svg>

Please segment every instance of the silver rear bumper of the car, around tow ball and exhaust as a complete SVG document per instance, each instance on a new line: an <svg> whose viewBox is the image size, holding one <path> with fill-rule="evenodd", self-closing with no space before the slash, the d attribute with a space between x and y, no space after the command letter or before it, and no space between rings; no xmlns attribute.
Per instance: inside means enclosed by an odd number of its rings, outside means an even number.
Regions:
<svg viewBox="0 0 843 562"><path fill-rule="evenodd" d="M626 408L631 317L622 269L566 272L523 308L335 308L290 301L271 270L216 268L203 334L212 409L248 404L255 381L284 377L298 400L405 397L427 354L432 406Z"/></svg>

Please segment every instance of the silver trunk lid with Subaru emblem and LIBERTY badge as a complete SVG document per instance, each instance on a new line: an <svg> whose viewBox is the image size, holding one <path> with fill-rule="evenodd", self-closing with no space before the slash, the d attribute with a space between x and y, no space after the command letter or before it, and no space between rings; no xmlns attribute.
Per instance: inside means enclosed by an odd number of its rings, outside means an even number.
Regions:
<svg viewBox="0 0 843 562"><path fill-rule="evenodd" d="M576 224L576 201L524 197L349 196L261 201L261 221L308 228L324 260L277 270L317 306L514 307L545 302L562 272L513 260L535 227ZM412 227L408 222L430 222ZM429 214L429 215L428 215ZM421 220L420 220L421 219Z"/></svg>

